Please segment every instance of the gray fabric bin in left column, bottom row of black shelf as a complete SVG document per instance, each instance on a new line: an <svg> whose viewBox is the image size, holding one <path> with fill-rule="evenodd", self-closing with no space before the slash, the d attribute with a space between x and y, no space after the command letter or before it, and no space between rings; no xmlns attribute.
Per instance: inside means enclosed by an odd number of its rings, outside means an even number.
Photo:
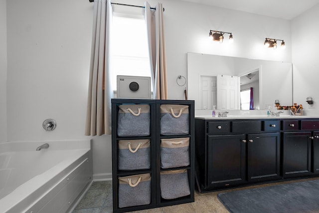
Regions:
<svg viewBox="0 0 319 213"><path fill-rule="evenodd" d="M151 174L119 178L119 208L151 203Z"/></svg>

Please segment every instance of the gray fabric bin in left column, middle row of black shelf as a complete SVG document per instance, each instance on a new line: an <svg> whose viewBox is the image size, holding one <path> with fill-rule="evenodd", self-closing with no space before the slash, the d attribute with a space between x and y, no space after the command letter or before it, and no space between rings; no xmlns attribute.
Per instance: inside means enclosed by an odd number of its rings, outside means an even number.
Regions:
<svg viewBox="0 0 319 213"><path fill-rule="evenodd" d="M119 170L151 168L151 140L119 140Z"/></svg>

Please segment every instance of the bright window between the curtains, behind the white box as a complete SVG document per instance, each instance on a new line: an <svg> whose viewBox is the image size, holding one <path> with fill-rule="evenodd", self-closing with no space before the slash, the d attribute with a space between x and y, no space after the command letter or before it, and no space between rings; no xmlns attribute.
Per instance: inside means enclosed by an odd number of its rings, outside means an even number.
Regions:
<svg viewBox="0 0 319 213"><path fill-rule="evenodd" d="M110 39L110 71L113 90L116 90L117 75L151 77L144 19L113 16Z"/></svg>

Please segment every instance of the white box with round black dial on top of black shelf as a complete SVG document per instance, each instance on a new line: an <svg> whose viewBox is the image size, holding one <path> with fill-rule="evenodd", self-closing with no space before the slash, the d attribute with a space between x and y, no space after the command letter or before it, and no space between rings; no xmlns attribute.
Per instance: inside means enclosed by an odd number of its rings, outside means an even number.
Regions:
<svg viewBox="0 0 319 213"><path fill-rule="evenodd" d="M118 75L117 98L151 99L151 77Z"/></svg>

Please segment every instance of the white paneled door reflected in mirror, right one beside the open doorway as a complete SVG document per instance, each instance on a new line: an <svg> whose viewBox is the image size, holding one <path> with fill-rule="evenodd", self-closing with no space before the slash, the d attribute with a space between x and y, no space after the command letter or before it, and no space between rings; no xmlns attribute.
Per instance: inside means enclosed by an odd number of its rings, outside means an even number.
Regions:
<svg viewBox="0 0 319 213"><path fill-rule="evenodd" d="M217 109L240 109L240 78L232 75L217 75Z"/></svg>

